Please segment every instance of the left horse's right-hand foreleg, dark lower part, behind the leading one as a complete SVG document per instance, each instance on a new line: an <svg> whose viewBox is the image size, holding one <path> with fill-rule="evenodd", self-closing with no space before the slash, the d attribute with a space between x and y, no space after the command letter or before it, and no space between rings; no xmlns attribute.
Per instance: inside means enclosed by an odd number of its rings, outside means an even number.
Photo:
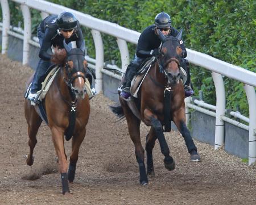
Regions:
<svg viewBox="0 0 256 205"><path fill-rule="evenodd" d="M79 148L84 140L86 133L86 129L84 128L82 131L77 132L76 135L72 137L72 153L70 156L70 162L68 167L68 181L73 182L76 173L76 163L79 157Z"/></svg>

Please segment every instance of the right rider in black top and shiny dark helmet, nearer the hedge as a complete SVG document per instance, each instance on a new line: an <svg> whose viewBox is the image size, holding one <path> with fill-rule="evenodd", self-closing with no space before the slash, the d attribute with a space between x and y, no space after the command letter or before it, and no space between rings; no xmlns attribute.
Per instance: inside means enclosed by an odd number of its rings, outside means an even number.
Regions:
<svg viewBox="0 0 256 205"><path fill-rule="evenodd" d="M160 12L155 16L155 24L148 26L144 29L141 36L139 36L137 51L134 55L134 59L127 66L126 73L122 85L118 87L118 90L121 91L120 95L127 99L131 96L130 86L131 81L133 80L134 75L138 72L139 67L142 62L151 56L158 56L160 51L158 50L162 41L158 37L158 29L164 36L177 36L179 33L174 27L171 26L171 18L166 12ZM189 67L188 61L185 59L187 57L187 51L185 49L184 43L181 41L181 48L183 50L181 55L181 67L187 72L187 81L184 85L185 96L191 96L194 92L189 86L190 77L189 77Z"/></svg>

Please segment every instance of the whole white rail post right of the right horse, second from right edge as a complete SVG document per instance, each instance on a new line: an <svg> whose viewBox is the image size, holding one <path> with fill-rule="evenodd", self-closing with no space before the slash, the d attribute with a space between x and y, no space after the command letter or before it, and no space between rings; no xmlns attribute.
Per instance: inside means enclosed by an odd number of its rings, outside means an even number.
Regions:
<svg viewBox="0 0 256 205"><path fill-rule="evenodd" d="M225 115L226 97L225 87L221 74L212 72L214 85L216 87L216 122L215 122L215 142L214 149L218 149L224 144L224 121L221 116Z"/></svg>

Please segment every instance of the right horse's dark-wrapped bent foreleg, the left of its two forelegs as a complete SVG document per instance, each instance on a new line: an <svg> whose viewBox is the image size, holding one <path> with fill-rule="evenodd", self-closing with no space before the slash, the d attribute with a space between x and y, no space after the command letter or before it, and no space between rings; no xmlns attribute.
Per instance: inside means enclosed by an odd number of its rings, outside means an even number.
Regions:
<svg viewBox="0 0 256 205"><path fill-rule="evenodd" d="M164 155L164 166L169 171L175 169L175 161L170 156L170 149L166 143L166 139L163 134L163 127L161 122L157 119L157 117L152 114L152 112L148 109L144 110L144 119L147 124L151 124L151 126L154 128L155 135L158 138L160 149L162 154Z"/></svg>

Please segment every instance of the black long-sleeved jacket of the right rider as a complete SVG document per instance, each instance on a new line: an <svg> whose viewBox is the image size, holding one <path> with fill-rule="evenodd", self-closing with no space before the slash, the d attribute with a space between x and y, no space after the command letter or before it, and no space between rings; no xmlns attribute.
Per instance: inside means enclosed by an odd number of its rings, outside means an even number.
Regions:
<svg viewBox="0 0 256 205"><path fill-rule="evenodd" d="M171 27L170 33L168 36L177 36L179 31L177 31L174 27ZM151 51L159 48L161 44L161 40L155 34L155 25L148 26L144 29L141 36L139 36L136 55L141 58L146 58L152 56ZM181 44L181 48L183 50L183 57L187 57L187 51L185 49L184 43Z"/></svg>

